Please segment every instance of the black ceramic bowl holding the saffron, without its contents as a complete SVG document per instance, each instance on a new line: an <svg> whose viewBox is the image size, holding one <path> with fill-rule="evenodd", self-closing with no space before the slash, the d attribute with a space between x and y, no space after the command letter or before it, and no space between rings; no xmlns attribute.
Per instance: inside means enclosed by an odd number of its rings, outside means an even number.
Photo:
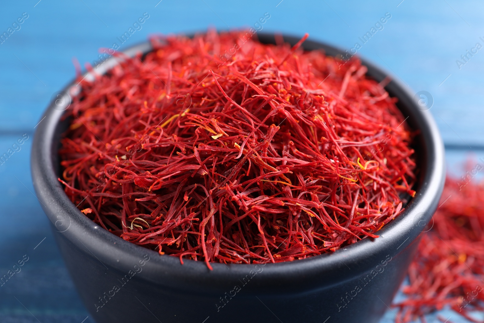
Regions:
<svg viewBox="0 0 484 323"><path fill-rule="evenodd" d="M258 34L263 43L274 36ZM284 37L295 44L299 38ZM306 41L304 49L343 53ZM125 51L148 52L149 43ZM98 73L116 64L109 59ZM363 60L377 81L387 75ZM88 79L92 76L88 73ZM378 322L390 306L433 215L444 183L444 148L429 111L421 111L407 88L394 79L385 87L413 129L419 181L404 214L378 233L332 254L262 265L213 263L160 256L100 228L82 214L57 181L59 138L69 96L61 94L45 111L32 147L31 169L37 197L61 249L66 266L91 316L98 323L132 322ZM75 83L62 93L75 95ZM66 100L62 102L62 99ZM57 103L57 105L56 105Z"/></svg>

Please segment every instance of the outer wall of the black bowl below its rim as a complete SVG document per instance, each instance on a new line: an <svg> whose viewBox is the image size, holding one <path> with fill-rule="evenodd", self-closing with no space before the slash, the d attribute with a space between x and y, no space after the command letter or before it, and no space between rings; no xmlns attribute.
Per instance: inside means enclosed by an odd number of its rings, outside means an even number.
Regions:
<svg viewBox="0 0 484 323"><path fill-rule="evenodd" d="M259 294L252 291L254 286L246 288L257 284L254 277L263 277L262 269L258 273L241 274L232 284L219 286L225 293L187 293L150 283L144 279L139 262L134 262L133 271L126 273L106 266L89 250L72 244L56 228L53 232L76 288L97 323L201 323L207 318L206 323L322 323L327 319L327 322L375 323L392 303L418 245L414 241L396 255L382 255L370 271L351 268L357 274L352 279L334 281L330 286L315 285L307 292L288 289L286 293ZM341 265L346 267L343 261Z"/></svg>

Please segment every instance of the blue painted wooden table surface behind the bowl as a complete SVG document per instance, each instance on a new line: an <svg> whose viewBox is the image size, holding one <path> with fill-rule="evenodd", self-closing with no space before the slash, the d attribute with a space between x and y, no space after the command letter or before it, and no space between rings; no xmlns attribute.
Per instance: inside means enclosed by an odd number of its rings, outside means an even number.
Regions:
<svg viewBox="0 0 484 323"><path fill-rule="evenodd" d="M349 49L355 42L361 43L359 37L380 17L390 13L383 30L358 53L412 91L431 94L430 112L446 144L448 171L462 172L459 163L470 152L476 157L483 155L483 2L228 2L28 0L1 4L0 32L7 31L18 17L28 18L15 25L20 29L0 44L0 153L22 135L29 136L21 150L0 166L0 223L4 228L0 234L0 274L23 255L29 257L22 271L0 287L1 322L93 322L33 192L30 148L34 127L51 96L74 77L72 58L93 62L99 47L111 47L143 13L148 13L149 19L121 49L152 33L201 31L208 26L221 30L250 27L265 13L271 17L262 31L299 36L309 32L315 40ZM467 58L463 60L461 55ZM452 316L453 322L467 322L453 312L439 314L445 319ZM435 315L428 319L436 322ZM389 310L381 322L393 322L393 313Z"/></svg>

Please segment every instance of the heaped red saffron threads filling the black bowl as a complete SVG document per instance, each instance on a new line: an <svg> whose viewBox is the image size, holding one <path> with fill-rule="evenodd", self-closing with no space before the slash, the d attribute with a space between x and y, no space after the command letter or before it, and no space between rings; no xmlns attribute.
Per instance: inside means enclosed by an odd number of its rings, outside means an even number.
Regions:
<svg viewBox="0 0 484 323"><path fill-rule="evenodd" d="M412 190L413 134L357 59L250 32L156 36L66 111L59 179L78 208L136 245L262 263L377 231ZM402 200L403 199L403 200Z"/></svg>

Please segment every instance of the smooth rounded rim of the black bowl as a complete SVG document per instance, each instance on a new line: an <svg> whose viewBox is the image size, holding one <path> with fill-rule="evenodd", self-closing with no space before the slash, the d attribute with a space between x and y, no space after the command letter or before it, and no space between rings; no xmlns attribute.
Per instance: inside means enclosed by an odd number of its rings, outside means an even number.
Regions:
<svg viewBox="0 0 484 323"><path fill-rule="evenodd" d="M287 34L283 37L285 42L292 45L301 38ZM272 43L274 34L257 33L257 38L262 43ZM323 49L330 56L345 53L337 47L311 39L306 40L302 47L305 50ZM122 52L132 57L136 53L146 53L150 50L152 47L148 41L131 46ZM211 263L213 271L208 270L203 261L184 259L184 264L181 265L178 257L159 255L156 251L124 241L82 214L68 199L58 182L55 148L60 136L59 122L64 111L56 109L54 101L49 104L41 117L41 122L35 131L31 152L33 185L42 208L51 221L52 228L76 248L83 250L90 257L97 258L106 268L109 266L122 273L127 273L134 264L143 259L144 255L148 255L150 261L146 262L144 274L137 277L178 290L221 291L223 290L221 286L229 286L240 277L253 271L259 273L263 269L265 274L257 277L258 283L253 284L255 285L253 288L267 292L284 292L292 288L304 292L318 286L344 281L371 270L378 264L378 260L385 259L384 255L387 252L394 256L412 244L423 231L425 224L430 221L437 208L445 179L444 146L432 115L429 111L418 108L412 92L400 81L391 77L391 74L368 60L361 57L359 59L367 66L368 75L377 81L385 77L391 78L385 89L392 92L392 96L397 96L399 102L407 107L408 110L402 112L404 115L407 114L409 122L413 122L421 131L423 138L424 149L421 152L424 159L424 166L421 169L423 178L417 194L408 203L403 214L378 231L379 238L366 238L334 253L297 261L259 265ZM86 72L83 76L92 80L93 73L104 74L120 60L122 59L116 57L108 58L96 65L93 72ZM61 93L64 99L70 100L68 93L76 95L79 90L78 83L76 85L74 80ZM66 227L67 229L64 230Z"/></svg>

